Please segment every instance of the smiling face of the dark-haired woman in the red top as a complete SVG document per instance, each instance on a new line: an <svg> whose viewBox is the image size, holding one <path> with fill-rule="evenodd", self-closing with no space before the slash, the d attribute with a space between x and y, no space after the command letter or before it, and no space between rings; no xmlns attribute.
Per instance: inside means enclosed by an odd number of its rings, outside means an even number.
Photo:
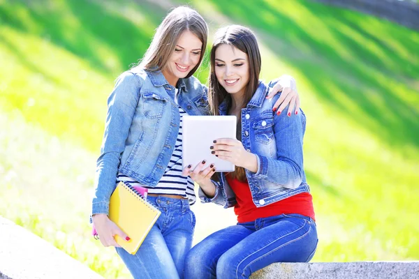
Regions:
<svg viewBox="0 0 419 279"><path fill-rule="evenodd" d="M219 45L215 50L215 75L230 94L244 96L249 83L249 57L233 45ZM232 96L233 97L233 96Z"/></svg>

